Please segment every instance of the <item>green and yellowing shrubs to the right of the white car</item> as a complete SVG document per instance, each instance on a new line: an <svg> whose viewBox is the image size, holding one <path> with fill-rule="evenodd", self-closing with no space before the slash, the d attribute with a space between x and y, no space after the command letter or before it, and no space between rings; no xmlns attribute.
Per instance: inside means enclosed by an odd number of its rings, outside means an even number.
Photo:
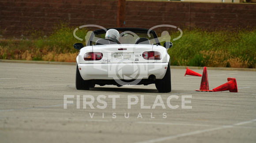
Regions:
<svg viewBox="0 0 256 143"><path fill-rule="evenodd" d="M177 33L171 33L175 37ZM184 29L168 50L172 65L255 68L256 29ZM232 61L233 60L233 61ZM234 64L239 62L240 64Z"/></svg>

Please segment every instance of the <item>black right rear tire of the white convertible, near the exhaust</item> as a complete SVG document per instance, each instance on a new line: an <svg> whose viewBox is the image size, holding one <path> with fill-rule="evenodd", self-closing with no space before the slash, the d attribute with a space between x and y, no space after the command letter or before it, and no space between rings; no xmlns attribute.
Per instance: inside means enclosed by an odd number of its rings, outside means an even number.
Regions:
<svg viewBox="0 0 256 143"><path fill-rule="evenodd" d="M166 74L163 79L157 79L155 83L156 88L158 89L159 93L168 93L172 91L171 86L171 68L170 64L166 69Z"/></svg>

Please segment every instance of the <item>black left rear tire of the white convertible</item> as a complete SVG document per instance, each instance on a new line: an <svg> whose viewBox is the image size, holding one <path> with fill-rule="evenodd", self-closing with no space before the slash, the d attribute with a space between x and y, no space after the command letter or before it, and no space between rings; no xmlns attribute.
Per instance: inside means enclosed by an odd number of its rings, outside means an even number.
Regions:
<svg viewBox="0 0 256 143"><path fill-rule="evenodd" d="M78 90L90 89L90 80L83 80L77 65L76 65L76 73L75 73L75 88Z"/></svg>

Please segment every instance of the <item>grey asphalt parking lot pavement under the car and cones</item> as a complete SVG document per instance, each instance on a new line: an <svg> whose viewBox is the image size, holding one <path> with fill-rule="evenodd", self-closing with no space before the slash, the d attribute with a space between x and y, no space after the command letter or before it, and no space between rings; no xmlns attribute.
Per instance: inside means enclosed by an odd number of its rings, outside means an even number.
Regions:
<svg viewBox="0 0 256 143"><path fill-rule="evenodd" d="M75 89L75 64L0 62L1 143L256 143L256 72L171 68L172 92L149 86ZM203 69L192 69L202 74Z"/></svg>

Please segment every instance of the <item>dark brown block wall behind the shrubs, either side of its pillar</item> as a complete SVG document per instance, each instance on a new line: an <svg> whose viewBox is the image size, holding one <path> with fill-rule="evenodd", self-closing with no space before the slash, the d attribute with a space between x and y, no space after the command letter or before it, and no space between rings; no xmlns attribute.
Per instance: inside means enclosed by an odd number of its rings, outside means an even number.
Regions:
<svg viewBox="0 0 256 143"><path fill-rule="evenodd" d="M54 25L117 27L117 0L0 0L0 35L51 33ZM126 1L125 27L256 27L256 4Z"/></svg>

